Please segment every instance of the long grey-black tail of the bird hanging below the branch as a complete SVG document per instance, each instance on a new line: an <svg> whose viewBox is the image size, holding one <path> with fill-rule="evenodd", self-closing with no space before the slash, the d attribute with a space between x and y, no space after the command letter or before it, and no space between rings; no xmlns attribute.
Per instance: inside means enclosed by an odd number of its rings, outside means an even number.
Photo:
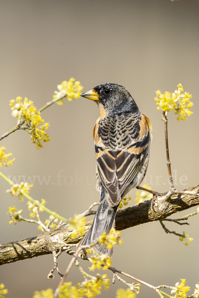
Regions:
<svg viewBox="0 0 199 298"><path fill-rule="evenodd" d="M80 245L90 245L94 243L104 231L108 234L113 227L118 206L110 206L106 200L107 195L105 188L102 186L100 203L94 221L81 240ZM106 245L102 246L101 243L97 243L94 249L99 253L108 253L110 257L113 254L113 249L108 249Z"/></svg>

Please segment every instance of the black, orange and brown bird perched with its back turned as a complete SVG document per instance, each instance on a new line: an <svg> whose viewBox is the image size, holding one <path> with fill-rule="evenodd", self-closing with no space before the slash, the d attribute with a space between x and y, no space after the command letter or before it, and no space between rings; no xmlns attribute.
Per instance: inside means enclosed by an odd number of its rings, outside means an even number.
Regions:
<svg viewBox="0 0 199 298"><path fill-rule="evenodd" d="M144 179L152 125L120 84L102 83L81 96L95 101L100 112L93 130L100 201L93 223L80 241L80 245L90 245L103 232L109 233L121 200ZM113 254L113 249L99 242L93 248L100 254Z"/></svg>

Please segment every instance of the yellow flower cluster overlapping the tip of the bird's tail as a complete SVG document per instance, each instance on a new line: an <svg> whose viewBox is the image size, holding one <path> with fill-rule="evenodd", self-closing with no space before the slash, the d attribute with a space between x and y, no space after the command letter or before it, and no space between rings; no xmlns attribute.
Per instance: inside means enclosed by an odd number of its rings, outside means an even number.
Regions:
<svg viewBox="0 0 199 298"><path fill-rule="evenodd" d="M110 229L108 235L103 232L98 241L102 244L102 246L106 245L107 248L111 249L114 245L122 244L123 240L121 239L121 231L117 231L113 227Z"/></svg>

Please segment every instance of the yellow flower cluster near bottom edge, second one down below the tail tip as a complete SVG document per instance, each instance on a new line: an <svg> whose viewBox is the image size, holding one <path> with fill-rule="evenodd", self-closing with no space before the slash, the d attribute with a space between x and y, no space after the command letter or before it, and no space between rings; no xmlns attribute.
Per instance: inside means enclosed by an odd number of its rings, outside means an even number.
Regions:
<svg viewBox="0 0 199 298"><path fill-rule="evenodd" d="M87 296L88 298L92 298L96 295L99 295L101 293L102 287L105 290L108 290L109 282L110 280L107 278L106 274L97 274L96 276L92 276L92 278L89 280L85 279L81 284L77 284L80 297Z"/></svg>

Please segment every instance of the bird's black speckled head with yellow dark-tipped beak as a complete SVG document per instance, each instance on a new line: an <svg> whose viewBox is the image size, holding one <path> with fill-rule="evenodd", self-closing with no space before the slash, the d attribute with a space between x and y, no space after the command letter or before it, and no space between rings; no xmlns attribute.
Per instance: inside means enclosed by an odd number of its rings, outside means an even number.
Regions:
<svg viewBox="0 0 199 298"><path fill-rule="evenodd" d="M103 107L107 115L122 114L125 112L139 112L129 91L119 84L104 83L82 93L81 96L94 100L100 110Z"/></svg>

